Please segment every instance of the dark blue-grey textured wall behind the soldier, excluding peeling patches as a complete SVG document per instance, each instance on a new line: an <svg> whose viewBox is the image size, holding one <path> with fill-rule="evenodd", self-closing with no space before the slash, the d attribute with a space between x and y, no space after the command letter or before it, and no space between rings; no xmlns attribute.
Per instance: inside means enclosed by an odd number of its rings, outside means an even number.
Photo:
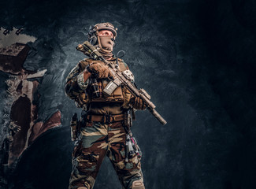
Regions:
<svg viewBox="0 0 256 189"><path fill-rule="evenodd" d="M136 83L168 121L161 126L150 113L137 113L132 131L143 150L146 187L256 187L254 1L10 0L0 7L0 26L22 27L38 39L25 67L48 69L39 120L56 109L63 116L61 128L24 153L10 177L14 188L68 187L69 118L79 109L65 97L65 76L83 58L75 47L89 25L103 21L118 28L114 52L126 51ZM95 184L102 187L121 188L107 159Z"/></svg>

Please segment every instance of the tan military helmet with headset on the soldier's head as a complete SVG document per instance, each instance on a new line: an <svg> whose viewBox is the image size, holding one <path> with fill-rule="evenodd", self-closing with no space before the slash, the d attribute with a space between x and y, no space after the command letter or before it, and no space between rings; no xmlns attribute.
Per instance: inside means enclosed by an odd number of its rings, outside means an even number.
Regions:
<svg viewBox="0 0 256 189"><path fill-rule="evenodd" d="M97 43L98 31L100 30L112 31L113 39L116 39L117 37L117 28L114 28L113 24L109 22L95 24L94 26L91 26L89 28L89 32L88 32L88 41L91 44L95 45Z"/></svg>

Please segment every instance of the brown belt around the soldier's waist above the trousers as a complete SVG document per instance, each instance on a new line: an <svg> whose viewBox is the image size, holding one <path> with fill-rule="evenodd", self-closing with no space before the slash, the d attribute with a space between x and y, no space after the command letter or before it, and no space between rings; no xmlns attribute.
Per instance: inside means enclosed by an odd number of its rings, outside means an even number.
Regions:
<svg viewBox="0 0 256 189"><path fill-rule="evenodd" d="M117 122L124 120L124 114L118 115L87 115L87 120L89 121L98 121L104 124L109 124L112 122Z"/></svg>

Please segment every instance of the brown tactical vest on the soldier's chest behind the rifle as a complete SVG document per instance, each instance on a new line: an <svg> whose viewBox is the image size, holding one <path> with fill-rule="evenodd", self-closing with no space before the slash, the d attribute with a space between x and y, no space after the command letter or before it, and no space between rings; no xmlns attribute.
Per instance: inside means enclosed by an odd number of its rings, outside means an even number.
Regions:
<svg viewBox="0 0 256 189"><path fill-rule="evenodd" d="M99 62L101 64L104 64L102 61L95 61L91 58L85 58L82 61L79 62L79 66L81 71L83 71L87 65L93 63L93 62ZM116 64L116 59L110 60L110 63ZM128 69L128 66L125 65L124 61L118 58L118 63L119 63L119 69L124 72L125 70ZM130 91L128 91L126 88L123 86L117 87L115 91L110 96L106 96L102 93L103 89L106 87L106 85L109 83L108 79L97 79L98 82L98 91L99 91L99 96L96 97L93 94L93 88L91 85L89 85L86 89L85 92L82 92L79 97L79 102L80 104L89 104L91 102L119 102L122 103L122 106L128 106L128 102L130 101L130 98L132 94Z"/></svg>

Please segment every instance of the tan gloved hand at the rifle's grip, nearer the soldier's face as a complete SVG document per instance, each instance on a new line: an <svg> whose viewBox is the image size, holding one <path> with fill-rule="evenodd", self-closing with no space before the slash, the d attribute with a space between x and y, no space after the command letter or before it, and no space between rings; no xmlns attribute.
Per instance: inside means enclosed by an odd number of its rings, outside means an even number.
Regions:
<svg viewBox="0 0 256 189"><path fill-rule="evenodd" d="M97 78L107 78L109 76L108 66L101 63L91 63L87 66L87 70Z"/></svg>

